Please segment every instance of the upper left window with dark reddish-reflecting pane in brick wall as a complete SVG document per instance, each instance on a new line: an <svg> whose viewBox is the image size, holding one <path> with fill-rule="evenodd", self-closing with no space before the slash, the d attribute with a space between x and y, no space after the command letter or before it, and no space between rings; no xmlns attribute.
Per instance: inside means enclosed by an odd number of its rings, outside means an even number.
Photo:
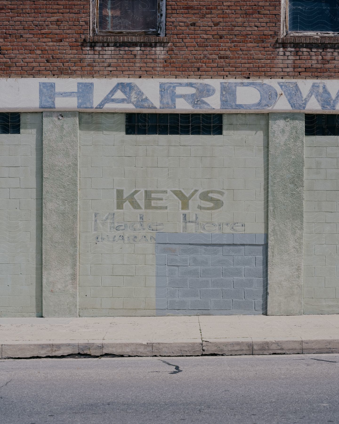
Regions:
<svg viewBox="0 0 339 424"><path fill-rule="evenodd" d="M96 34L164 35L165 0L96 1Z"/></svg>

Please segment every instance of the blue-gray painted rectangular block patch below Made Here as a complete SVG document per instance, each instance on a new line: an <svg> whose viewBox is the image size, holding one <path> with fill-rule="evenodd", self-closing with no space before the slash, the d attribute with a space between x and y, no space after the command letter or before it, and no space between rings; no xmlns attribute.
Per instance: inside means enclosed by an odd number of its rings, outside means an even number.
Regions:
<svg viewBox="0 0 339 424"><path fill-rule="evenodd" d="M266 312L266 234L156 235L156 314Z"/></svg>

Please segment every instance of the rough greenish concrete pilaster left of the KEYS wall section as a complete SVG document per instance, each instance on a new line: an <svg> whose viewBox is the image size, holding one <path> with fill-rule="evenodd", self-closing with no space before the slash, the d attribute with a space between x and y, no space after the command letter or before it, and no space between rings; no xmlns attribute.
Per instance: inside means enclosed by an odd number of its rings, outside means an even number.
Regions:
<svg viewBox="0 0 339 424"><path fill-rule="evenodd" d="M78 112L43 112L42 314L78 316Z"/></svg>

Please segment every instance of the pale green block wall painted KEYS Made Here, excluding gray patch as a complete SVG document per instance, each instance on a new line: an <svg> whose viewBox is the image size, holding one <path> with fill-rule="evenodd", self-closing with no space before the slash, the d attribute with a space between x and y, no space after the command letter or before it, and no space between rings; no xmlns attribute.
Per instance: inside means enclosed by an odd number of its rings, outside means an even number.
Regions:
<svg viewBox="0 0 339 424"><path fill-rule="evenodd" d="M224 115L222 136L127 136L124 114L80 113L79 131L80 316L155 315L160 232L267 232L267 115Z"/></svg>

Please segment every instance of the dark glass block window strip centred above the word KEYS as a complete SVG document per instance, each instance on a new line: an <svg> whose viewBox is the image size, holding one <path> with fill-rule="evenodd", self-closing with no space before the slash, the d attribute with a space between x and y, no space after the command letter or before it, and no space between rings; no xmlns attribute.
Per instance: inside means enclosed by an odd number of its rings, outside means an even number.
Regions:
<svg viewBox="0 0 339 424"><path fill-rule="evenodd" d="M127 113L126 134L220 135L222 114Z"/></svg>

